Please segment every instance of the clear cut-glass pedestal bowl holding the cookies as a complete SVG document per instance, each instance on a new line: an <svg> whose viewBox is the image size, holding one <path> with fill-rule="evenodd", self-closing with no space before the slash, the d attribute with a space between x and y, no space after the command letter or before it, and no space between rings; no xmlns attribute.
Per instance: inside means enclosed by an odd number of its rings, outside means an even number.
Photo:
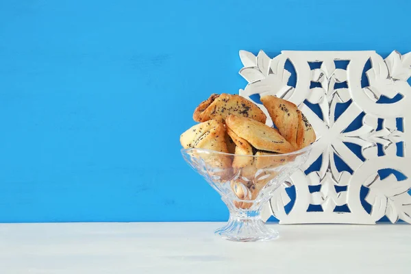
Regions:
<svg viewBox="0 0 411 274"><path fill-rule="evenodd" d="M306 162L311 148L312 145L292 153L255 156L208 149L182 149L182 154L227 205L228 223L215 233L227 240L251 242L278 237L278 232L264 225L262 206Z"/></svg>

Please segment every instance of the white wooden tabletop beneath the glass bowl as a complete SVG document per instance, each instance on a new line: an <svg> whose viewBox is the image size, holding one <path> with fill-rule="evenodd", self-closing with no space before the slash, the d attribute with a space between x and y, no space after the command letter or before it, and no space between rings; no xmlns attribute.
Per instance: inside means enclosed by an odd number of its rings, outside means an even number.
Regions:
<svg viewBox="0 0 411 274"><path fill-rule="evenodd" d="M0 224L0 273L411 273L410 225L273 224L271 242L223 240L221 225Z"/></svg>

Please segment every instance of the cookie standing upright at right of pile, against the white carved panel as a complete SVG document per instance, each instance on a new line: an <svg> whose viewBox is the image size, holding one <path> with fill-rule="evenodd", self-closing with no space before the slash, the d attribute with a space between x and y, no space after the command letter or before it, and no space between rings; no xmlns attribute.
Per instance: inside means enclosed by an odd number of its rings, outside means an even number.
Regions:
<svg viewBox="0 0 411 274"><path fill-rule="evenodd" d="M297 105L284 99L266 95L260 98L279 133L293 146L297 147L299 115Z"/></svg>

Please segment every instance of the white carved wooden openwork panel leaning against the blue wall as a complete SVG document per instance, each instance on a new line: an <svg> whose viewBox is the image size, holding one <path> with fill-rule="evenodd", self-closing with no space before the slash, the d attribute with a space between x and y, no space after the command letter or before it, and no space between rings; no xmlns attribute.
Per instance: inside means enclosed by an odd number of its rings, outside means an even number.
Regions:
<svg viewBox="0 0 411 274"><path fill-rule="evenodd" d="M257 56L240 51L240 59L244 65L240 75L249 83L240 90L240 95L250 100L255 94L275 95L292 101L312 123L318 138L308 162L291 175L289 182L277 188L266 204L262 211L264 219L273 215L281 224L375 224L385 215L392 223L399 219L411 223L411 196L408 194L411 162L406 146L411 141L406 129L408 119L411 119L411 86L407 82L411 77L411 53L401 55L393 51L384 60L375 51L282 51L271 59L264 51ZM287 60L297 74L295 88L288 86L291 73L284 68ZM335 61L338 60L349 61L347 68L336 68ZM362 87L362 73L368 60L372 66L366 71L369 86ZM321 62L321 66L311 69L310 62ZM321 87L310 88L312 82ZM335 88L338 83L345 83L347 87ZM393 99L398 94L402 98L395 103L378 101L382 96ZM308 107L306 101L319 105L323 119ZM347 110L336 119L337 104L349 101ZM259 106L268 116L264 106ZM362 126L345 132L363 112ZM382 119L382 128L377 128L379 119ZM397 126L401 121L403 125ZM271 122L267 124L272 125ZM345 142L359 145L362 158ZM378 156L377 144L382 145L384 155ZM397 145L403 145L403 155L397 155ZM304 171L320 155L319 171L306 174ZM338 171L334 155L349 166L352 174ZM381 169L394 169L407 178L398 181L394 175L389 175L381 179L377 173ZM291 199L286 188L292 185L296 198L287 214L284 207ZM309 186L319 186L320 190L311 193ZM337 192L335 186L347 189ZM360 201L362 187L369 190L365 200L372 206L370 213L364 210ZM323 212L308 212L310 205L321 206ZM344 205L350 212L336 211L336 206Z"/></svg>

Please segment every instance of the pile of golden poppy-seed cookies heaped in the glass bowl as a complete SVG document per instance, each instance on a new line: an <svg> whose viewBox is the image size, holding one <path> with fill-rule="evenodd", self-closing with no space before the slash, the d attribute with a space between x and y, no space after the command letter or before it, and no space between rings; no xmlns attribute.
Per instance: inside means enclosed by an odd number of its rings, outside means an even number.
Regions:
<svg viewBox="0 0 411 274"><path fill-rule="evenodd" d="M266 115L258 105L239 95L213 94L195 109L193 119L199 122L180 136L184 149L208 149L203 160L222 171L221 180L231 179L232 189L241 200L253 200L259 190L273 177L257 171L280 166L292 159L290 153L310 145L316 139L312 126L297 105L271 95L261 97L275 127L266 123ZM230 153L225 154L225 153ZM277 155L277 157L253 157ZM223 171L235 171L233 173ZM231 176L231 177L230 177ZM228 178L230 177L230 178ZM256 184L260 182L260 184ZM261 183L262 182L262 183ZM247 208L247 203L236 203Z"/></svg>

